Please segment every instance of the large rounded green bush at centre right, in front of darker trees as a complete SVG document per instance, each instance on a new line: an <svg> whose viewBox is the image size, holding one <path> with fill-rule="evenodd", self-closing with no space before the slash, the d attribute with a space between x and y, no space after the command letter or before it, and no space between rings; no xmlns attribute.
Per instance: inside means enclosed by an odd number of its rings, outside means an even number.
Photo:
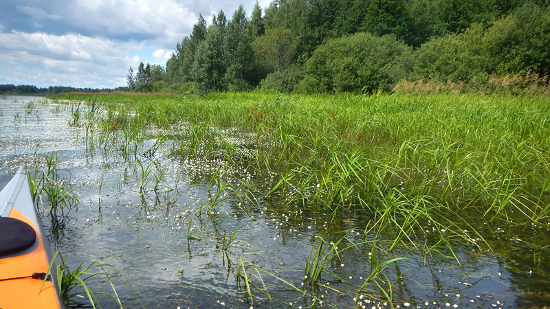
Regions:
<svg viewBox="0 0 550 309"><path fill-rule="evenodd" d="M389 91L407 71L410 47L394 35L360 32L320 46L307 60L307 73L331 93Z"/></svg>

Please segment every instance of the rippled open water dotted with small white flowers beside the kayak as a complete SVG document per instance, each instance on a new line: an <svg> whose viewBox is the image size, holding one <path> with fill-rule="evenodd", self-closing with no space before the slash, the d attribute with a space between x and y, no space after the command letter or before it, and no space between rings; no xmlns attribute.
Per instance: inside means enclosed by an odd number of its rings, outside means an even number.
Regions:
<svg viewBox="0 0 550 309"><path fill-rule="evenodd" d="M38 103L29 103L34 101ZM273 284L267 289L272 300L260 290L252 290L256 296L252 303L242 280L237 279L239 260L261 266L303 289L305 260L316 236L327 229L353 229L348 237L360 243L359 232L364 231L366 218L310 214L269 201L247 203L238 194L228 193L241 183L236 178L223 179L228 190L219 196L221 203L212 214L196 215L201 205L209 205L209 198L214 198L215 189L209 193L208 188L216 187L213 171L223 165L221 160L175 158L168 155L168 148L159 148L153 157L124 157L85 143L84 128L69 126L71 119L67 104L43 98L0 98L0 187L19 165L43 170L43 158L56 155L58 176L80 204L69 212L67 209L66 216L56 222L44 216L52 249L70 252L69 267L86 260L85 264L98 261L119 268L132 283L131 288L119 284L117 289L126 308L391 307L369 295L331 290L332 286L353 290L351 284L360 286L368 277L366 245L346 251L327 265L347 282L323 275L320 282L324 285L305 288L303 296L263 273L265 284ZM138 147L146 150L152 144L155 139L144 139ZM152 172L140 190L145 167ZM260 176L238 166L230 168L239 179L261 187ZM47 201L43 203L47 213ZM394 286L393 305L543 308L550 304L549 227L480 224L492 250L457 244L460 264L441 255L424 261L408 247L382 255L382 260L408 258L385 271L391 280L403 279ZM225 247L230 238L232 242ZM261 286L257 279L256 284ZM90 286L104 292L110 288L102 279ZM103 308L114 308L109 297L99 298Z"/></svg>

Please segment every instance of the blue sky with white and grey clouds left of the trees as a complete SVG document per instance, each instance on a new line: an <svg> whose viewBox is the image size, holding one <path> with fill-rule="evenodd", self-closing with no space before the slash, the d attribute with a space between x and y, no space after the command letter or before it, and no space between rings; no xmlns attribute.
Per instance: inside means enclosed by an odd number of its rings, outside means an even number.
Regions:
<svg viewBox="0 0 550 309"><path fill-rule="evenodd" d="M271 0L258 0L262 9ZM0 84L126 86L130 66L166 65L202 14L256 0L2 0Z"/></svg>

